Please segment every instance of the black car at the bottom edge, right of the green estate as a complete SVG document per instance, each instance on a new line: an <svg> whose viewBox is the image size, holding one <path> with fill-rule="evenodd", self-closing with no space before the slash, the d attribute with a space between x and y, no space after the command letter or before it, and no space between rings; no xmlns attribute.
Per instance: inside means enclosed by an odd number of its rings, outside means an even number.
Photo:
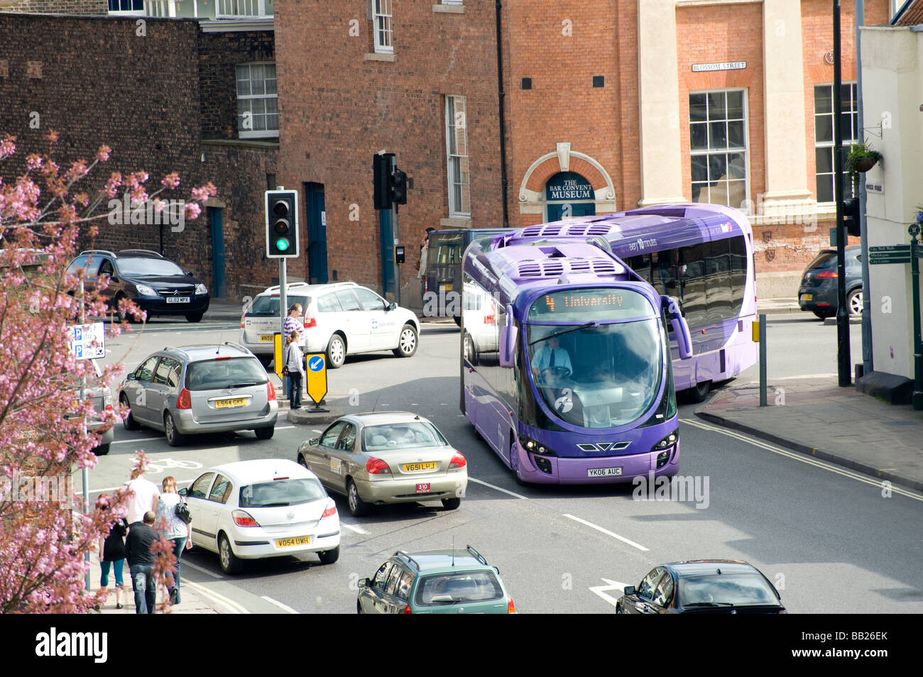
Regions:
<svg viewBox="0 0 923 677"><path fill-rule="evenodd" d="M786 613L761 571L734 560L661 564L626 586L616 613Z"/></svg>

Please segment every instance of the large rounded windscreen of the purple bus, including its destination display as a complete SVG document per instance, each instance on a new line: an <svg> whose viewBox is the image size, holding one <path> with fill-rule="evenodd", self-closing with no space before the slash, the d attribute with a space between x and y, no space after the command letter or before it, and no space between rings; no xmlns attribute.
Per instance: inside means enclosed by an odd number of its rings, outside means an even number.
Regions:
<svg viewBox="0 0 923 677"><path fill-rule="evenodd" d="M533 303L529 319L572 322L530 321L526 336L535 389L560 419L582 428L612 428L650 409L663 377L663 344L660 321L641 294L557 291Z"/></svg>

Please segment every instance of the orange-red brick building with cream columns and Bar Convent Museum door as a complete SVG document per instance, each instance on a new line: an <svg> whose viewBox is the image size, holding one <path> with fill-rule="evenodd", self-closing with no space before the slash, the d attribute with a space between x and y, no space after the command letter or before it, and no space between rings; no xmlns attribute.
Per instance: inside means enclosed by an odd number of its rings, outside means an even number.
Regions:
<svg viewBox="0 0 923 677"><path fill-rule="evenodd" d="M866 23L893 9L867 0ZM388 282L370 184L385 149L414 177L404 299L428 226L689 200L748 212L760 295L794 296L835 215L831 12L825 0L509 0L499 17L473 0L278 1L279 177L304 191L319 250L305 277ZM852 4L842 12L855 111ZM847 140L862 136L855 120Z"/></svg>

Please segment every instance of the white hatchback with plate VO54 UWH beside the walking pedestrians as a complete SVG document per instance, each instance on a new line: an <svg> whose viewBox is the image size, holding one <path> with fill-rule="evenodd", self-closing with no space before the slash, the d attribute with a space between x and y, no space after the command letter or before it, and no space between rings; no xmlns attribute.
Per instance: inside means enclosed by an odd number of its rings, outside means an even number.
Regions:
<svg viewBox="0 0 923 677"><path fill-rule="evenodd" d="M317 552L340 557L340 516L317 475L294 461L238 461L206 470L180 490L192 514L192 542L217 552L222 571L241 560Z"/></svg>

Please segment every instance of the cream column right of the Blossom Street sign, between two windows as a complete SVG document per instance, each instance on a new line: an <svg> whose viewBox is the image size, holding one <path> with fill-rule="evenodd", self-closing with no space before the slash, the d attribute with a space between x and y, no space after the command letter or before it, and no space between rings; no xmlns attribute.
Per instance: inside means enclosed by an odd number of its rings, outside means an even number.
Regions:
<svg viewBox="0 0 923 677"><path fill-rule="evenodd" d="M763 108L766 191L763 208L810 211L800 0L763 0ZM791 203L796 201L796 205ZM774 203L774 204L773 204ZM792 208L795 208L794 210Z"/></svg>

